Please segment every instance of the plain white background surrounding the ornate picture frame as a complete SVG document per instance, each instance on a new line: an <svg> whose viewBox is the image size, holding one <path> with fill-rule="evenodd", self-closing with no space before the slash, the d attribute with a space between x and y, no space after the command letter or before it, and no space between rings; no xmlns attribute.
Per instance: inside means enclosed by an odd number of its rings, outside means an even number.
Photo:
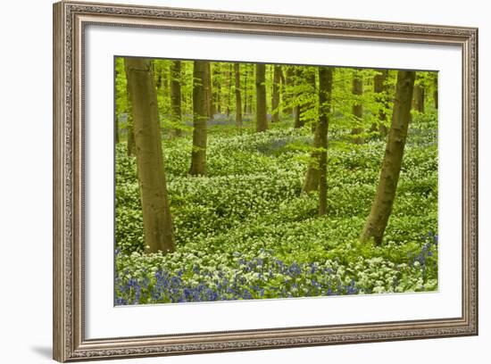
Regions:
<svg viewBox="0 0 491 364"><path fill-rule="evenodd" d="M121 0L122 1L122 0ZM369 343L258 352L206 354L125 360L125 362L312 362L341 361L389 363L420 362L487 362L491 340L490 305L487 280L491 273L489 244L491 230L486 224L491 196L485 188L491 180L485 165L491 145L483 139L490 132L491 115L485 109L491 89L484 80L489 71L491 51L485 46L491 40L491 25L485 2L469 0L412 1L404 12L393 1L301 2L249 0L180 0L139 1L140 4L162 4L230 11L291 13L333 18L379 21L407 21L479 27L481 48L479 60L479 99L481 120L479 133L480 170L480 335L468 338L420 340L398 343ZM52 152L52 16L51 2L25 0L4 4L0 21L2 35L2 100L0 122L0 322L4 362L48 362L51 357L51 152ZM401 355L402 353L407 353ZM411 355L410 355L411 354ZM113 361L114 362L114 361Z"/></svg>

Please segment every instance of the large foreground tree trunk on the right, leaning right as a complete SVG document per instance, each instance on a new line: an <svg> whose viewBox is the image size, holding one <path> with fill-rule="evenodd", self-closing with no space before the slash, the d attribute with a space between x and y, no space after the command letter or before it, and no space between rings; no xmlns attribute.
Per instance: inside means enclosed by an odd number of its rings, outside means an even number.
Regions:
<svg viewBox="0 0 491 364"><path fill-rule="evenodd" d="M392 212L397 182L399 181L403 163L407 129L411 119L415 73L412 70L399 70L397 73L394 110L387 138L386 153L380 170L377 193L371 204L370 215L362 231L362 241L368 241L373 238L376 244L381 244L388 218Z"/></svg>

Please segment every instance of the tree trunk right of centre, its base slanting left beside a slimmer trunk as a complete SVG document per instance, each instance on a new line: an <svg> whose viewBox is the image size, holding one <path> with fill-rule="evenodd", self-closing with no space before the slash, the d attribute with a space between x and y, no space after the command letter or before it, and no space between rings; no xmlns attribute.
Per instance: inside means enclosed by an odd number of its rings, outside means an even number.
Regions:
<svg viewBox="0 0 491 364"><path fill-rule="evenodd" d="M332 77L332 68L319 68L319 121L315 123L316 127L313 135L314 150L311 154L311 162L309 163L309 168L305 175L303 188L305 193L317 191L319 189L320 175L323 171L322 169L325 167L323 155L327 155L327 133L332 99Z"/></svg>

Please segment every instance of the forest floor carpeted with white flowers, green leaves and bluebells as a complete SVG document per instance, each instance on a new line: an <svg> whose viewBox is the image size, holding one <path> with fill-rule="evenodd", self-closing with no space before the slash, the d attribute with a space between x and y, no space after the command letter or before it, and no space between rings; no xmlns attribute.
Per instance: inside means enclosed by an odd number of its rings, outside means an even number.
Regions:
<svg viewBox="0 0 491 364"><path fill-rule="evenodd" d="M116 145L115 304L437 289L437 117L415 115L381 245L360 244L386 142L329 130L328 213L302 194L312 132L281 122L209 125L207 176L190 135L162 141L176 252L144 253L136 161Z"/></svg>

